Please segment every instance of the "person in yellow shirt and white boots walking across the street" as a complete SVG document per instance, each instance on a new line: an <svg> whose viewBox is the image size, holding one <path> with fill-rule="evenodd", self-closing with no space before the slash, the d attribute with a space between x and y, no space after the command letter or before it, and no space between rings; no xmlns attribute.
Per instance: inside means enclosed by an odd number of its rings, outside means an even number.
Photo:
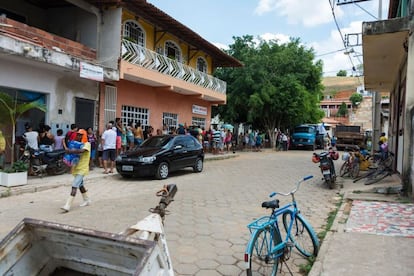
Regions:
<svg viewBox="0 0 414 276"><path fill-rule="evenodd" d="M80 149L66 149L67 153L71 154L80 154L79 162L73 166L72 175L74 176L72 182L72 189L70 192L69 198L66 200L66 204L61 207L61 209L67 213L70 211L72 206L73 200L75 199L76 192L79 188L83 202L80 204L81 207L88 206L91 204L91 200L88 196L88 191L83 184L83 178L85 175L89 173L89 159L90 159L90 151L91 151L91 144L88 142L86 130L80 129L76 133L76 141L83 143L83 147Z"/></svg>

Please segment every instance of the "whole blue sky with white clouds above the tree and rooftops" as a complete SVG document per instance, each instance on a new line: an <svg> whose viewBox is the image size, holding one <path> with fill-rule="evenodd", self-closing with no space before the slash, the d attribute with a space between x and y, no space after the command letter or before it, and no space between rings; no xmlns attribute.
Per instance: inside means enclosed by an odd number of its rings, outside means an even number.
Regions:
<svg viewBox="0 0 414 276"><path fill-rule="evenodd" d="M344 2L345 0L339 0ZM349 0L348 0L349 1ZM388 0L336 5L338 0L147 0L207 41L226 49L233 37L300 38L324 63L324 75L352 74L362 64L361 47L345 50L343 39L361 33L363 21L387 17ZM333 4L333 2L335 2ZM332 10L333 7L333 10ZM382 7L382 9L380 9ZM381 10L381 12L379 12ZM334 20L336 18L336 22ZM339 28L339 30L338 30ZM348 36L351 44L361 37ZM345 55L351 50L353 53ZM352 51L352 50L351 50Z"/></svg>

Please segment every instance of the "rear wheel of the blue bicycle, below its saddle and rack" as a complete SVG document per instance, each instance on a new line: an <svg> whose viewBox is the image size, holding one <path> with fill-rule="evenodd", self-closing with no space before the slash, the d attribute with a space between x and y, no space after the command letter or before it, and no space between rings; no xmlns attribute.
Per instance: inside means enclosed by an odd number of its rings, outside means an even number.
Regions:
<svg viewBox="0 0 414 276"><path fill-rule="evenodd" d="M252 238L252 246L246 252L250 256L247 275L276 275L283 249L273 256L270 252L281 242L279 231L273 227L256 230Z"/></svg>

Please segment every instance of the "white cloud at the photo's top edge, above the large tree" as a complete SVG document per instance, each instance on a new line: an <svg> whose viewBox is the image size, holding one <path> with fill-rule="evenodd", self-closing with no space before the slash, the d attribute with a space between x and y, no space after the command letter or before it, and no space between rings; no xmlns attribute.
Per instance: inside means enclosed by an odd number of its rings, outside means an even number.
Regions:
<svg viewBox="0 0 414 276"><path fill-rule="evenodd" d="M342 9L336 5L334 9L335 16L341 18ZM322 0L260 0L254 13L263 15L273 11L286 17L289 24L302 24L305 27L315 27L333 21L331 6Z"/></svg>

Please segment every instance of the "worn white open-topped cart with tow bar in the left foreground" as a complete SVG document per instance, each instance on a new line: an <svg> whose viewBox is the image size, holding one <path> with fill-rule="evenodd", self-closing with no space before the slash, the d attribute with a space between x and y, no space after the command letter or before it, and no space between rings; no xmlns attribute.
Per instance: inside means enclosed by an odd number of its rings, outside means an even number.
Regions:
<svg viewBox="0 0 414 276"><path fill-rule="evenodd" d="M176 192L164 186L152 214L119 234L25 218L0 242L0 275L174 275L163 220Z"/></svg>

